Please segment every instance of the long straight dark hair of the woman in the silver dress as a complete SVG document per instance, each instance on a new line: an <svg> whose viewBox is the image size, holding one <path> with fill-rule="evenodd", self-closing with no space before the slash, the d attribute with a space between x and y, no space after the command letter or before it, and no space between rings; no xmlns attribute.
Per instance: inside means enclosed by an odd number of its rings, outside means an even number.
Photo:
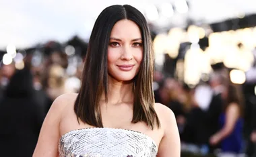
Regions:
<svg viewBox="0 0 256 157"><path fill-rule="evenodd" d="M106 7L94 24L82 75L82 87L75 101L74 111L77 121L95 127L103 127L100 114L102 94L108 101L108 65L107 50L111 30L117 21L129 19L137 24L143 40L143 61L139 72L133 79L134 102L132 123L146 122L152 129L160 127L158 115L154 109L153 70L154 54L147 21L142 13L130 5L112 5Z"/></svg>

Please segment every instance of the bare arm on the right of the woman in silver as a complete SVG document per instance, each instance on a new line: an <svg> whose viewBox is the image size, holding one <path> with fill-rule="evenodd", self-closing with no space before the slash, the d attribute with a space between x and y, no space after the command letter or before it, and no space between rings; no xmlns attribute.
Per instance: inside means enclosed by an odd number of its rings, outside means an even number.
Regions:
<svg viewBox="0 0 256 157"><path fill-rule="evenodd" d="M164 136L158 148L158 157L181 156L181 141L174 113L162 105L159 114L162 114L161 127L164 127Z"/></svg>

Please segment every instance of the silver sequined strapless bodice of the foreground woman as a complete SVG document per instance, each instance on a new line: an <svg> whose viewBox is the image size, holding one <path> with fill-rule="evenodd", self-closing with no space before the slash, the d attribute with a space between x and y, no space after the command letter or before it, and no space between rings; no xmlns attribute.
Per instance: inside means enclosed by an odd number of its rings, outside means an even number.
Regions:
<svg viewBox="0 0 256 157"><path fill-rule="evenodd" d="M60 157L155 157L157 151L152 138L129 129L77 129L64 134L59 140Z"/></svg>

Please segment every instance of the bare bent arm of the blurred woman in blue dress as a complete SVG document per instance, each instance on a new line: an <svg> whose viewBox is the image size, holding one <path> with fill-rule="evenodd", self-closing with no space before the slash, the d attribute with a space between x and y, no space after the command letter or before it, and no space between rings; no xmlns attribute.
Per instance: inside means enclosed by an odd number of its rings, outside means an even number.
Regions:
<svg viewBox="0 0 256 157"><path fill-rule="evenodd" d="M239 116L240 116L240 113L239 113L238 104L232 103L228 105L226 109L226 121L225 121L224 127L222 127L222 129L220 129L219 132L217 132L214 136L212 136L212 138L210 138L210 144L216 145L221 140L226 138L226 136L229 136L232 133Z"/></svg>

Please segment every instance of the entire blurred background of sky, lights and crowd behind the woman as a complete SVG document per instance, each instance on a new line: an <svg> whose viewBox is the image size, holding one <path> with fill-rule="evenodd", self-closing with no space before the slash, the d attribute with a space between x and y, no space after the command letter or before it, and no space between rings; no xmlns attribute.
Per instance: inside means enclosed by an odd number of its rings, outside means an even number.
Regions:
<svg viewBox="0 0 256 157"><path fill-rule="evenodd" d="M96 17L114 4L148 20L155 99L174 111L182 156L256 156L255 0L0 1L3 156L32 156L53 100L79 91Z"/></svg>

